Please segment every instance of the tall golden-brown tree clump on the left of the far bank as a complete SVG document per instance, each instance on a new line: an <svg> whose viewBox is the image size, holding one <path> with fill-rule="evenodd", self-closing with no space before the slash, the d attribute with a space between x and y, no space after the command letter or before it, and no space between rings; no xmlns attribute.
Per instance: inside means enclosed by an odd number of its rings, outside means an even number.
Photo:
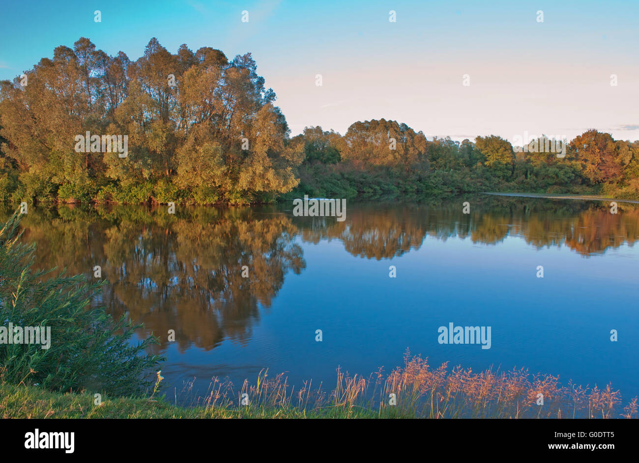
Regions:
<svg viewBox="0 0 639 463"><path fill-rule="evenodd" d="M132 62L83 37L27 77L26 86L15 79L0 91L3 151L20 170L21 200L52 193L84 201L101 185L174 183L186 195L206 188L242 203L298 183L303 147L288 143L286 119L250 53L229 62L220 50L181 45L171 54L151 38ZM75 137L86 132L126 135L127 155L77 152ZM112 199L108 188L102 196ZM153 192L142 189L146 201Z"/></svg>

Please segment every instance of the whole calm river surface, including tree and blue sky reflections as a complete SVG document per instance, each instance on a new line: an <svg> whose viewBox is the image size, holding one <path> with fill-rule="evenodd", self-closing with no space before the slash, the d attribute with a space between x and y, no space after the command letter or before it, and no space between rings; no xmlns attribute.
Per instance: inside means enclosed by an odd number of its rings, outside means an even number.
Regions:
<svg viewBox="0 0 639 463"><path fill-rule="evenodd" d="M175 215L63 206L31 210L22 225L38 266L102 266L100 302L144 323L141 337L160 337L170 395L192 380L205 393L213 376L254 382L263 368L330 390L338 366L389 371L408 348L435 367L527 367L610 382L629 398L639 394L639 205L609 207L481 195L348 201L336 222L293 216L288 203ZM491 348L438 344L449 323L491 326Z"/></svg>

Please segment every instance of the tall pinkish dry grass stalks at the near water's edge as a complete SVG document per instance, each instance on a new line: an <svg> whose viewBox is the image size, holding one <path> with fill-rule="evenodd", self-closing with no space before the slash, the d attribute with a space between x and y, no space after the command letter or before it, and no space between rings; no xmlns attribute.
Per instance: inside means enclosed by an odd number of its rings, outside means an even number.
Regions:
<svg viewBox="0 0 639 463"><path fill-rule="evenodd" d="M192 393L192 386L187 383L181 394ZM406 351L404 365L387 375L382 368L369 377L338 368L330 393L312 381L296 389L284 374L270 377L262 370L255 384L245 380L240 388L213 378L206 395L192 398L190 405L222 407L240 417L278 407L282 416L309 418L636 418L637 398L621 408L620 396L610 384L562 385L558 377L524 368L478 373L449 370L447 363L431 368L427 359Z"/></svg>

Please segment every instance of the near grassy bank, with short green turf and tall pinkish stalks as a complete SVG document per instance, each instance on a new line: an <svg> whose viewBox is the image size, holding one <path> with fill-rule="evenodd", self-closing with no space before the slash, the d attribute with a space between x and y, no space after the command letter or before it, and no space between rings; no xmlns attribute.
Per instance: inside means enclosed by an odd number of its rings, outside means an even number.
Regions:
<svg viewBox="0 0 639 463"><path fill-rule="evenodd" d="M188 406L172 404L178 395L158 397L162 377L142 397L58 393L42 386L2 383L2 418L636 418L637 398L622 405L620 392L606 388L562 386L557 377L531 376L527 370L473 373L444 364L429 367L420 356L406 355L403 367L387 376L337 371L335 388L326 392L291 387L282 374L263 370L255 384L239 390L215 379L208 395ZM187 391L190 393L190 391ZM168 397L167 397L168 396ZM174 398L175 397L175 398ZM181 402L181 400L180 400Z"/></svg>

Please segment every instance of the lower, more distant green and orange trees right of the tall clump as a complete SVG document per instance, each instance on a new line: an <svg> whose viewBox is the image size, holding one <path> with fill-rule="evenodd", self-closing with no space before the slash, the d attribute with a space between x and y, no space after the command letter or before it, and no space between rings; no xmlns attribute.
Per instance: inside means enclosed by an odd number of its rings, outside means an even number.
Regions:
<svg viewBox="0 0 639 463"><path fill-rule="evenodd" d="M389 148L392 139L396 149ZM343 137L306 128L291 144L307 153L296 195L532 192L639 199L639 141L613 140L597 130L569 142L564 157L540 153L533 142L526 150L513 148L496 135L474 142L427 140L422 132L384 119L355 123ZM544 138L534 144L543 147Z"/></svg>

